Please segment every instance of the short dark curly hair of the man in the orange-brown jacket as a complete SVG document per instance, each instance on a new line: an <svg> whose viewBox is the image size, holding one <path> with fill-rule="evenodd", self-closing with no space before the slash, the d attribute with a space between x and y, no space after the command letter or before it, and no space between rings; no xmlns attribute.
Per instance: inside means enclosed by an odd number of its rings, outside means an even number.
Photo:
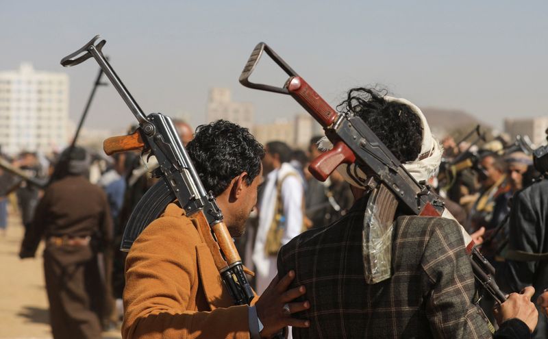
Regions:
<svg viewBox="0 0 548 339"><path fill-rule="evenodd" d="M242 172L247 172L246 182L251 185L264 157L262 145L247 128L225 120L198 126L186 151L203 186L215 197Z"/></svg>

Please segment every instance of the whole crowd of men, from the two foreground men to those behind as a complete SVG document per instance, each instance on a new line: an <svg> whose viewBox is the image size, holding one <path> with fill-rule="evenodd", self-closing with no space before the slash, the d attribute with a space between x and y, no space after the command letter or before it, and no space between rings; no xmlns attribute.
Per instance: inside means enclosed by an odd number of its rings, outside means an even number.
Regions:
<svg viewBox="0 0 548 339"><path fill-rule="evenodd" d="M383 240L388 277L368 279L374 253L364 229L373 192L356 164L325 182L312 177L308 165L329 148L321 136L301 150L260 145L227 121L195 133L176 122L256 299L232 305L203 235L177 203L129 255L119 251L130 214L156 180L155 165L138 153L92 161L74 147L48 171L25 152L14 167L55 176L43 189L25 180L13 186L25 227L21 258L34 257L45 240L54 338L100 338L122 319L123 338L547 338L548 184L530 152L503 138L466 147L447 137L440 145L419 108L371 89L350 90L340 109L360 117L416 181L443 197L495 266L508 301L498 305L475 284L458 223L396 207ZM0 229L7 201L0 198Z"/></svg>

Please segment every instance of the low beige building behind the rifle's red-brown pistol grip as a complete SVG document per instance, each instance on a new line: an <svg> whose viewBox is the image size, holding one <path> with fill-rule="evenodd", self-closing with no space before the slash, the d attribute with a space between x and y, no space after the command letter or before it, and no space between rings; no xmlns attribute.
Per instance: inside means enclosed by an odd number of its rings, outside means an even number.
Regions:
<svg viewBox="0 0 548 339"><path fill-rule="evenodd" d="M308 149L310 138L319 134L319 124L307 113L299 113L292 120L278 120L274 123L256 125L253 135L265 144L269 141L283 141L294 148Z"/></svg>

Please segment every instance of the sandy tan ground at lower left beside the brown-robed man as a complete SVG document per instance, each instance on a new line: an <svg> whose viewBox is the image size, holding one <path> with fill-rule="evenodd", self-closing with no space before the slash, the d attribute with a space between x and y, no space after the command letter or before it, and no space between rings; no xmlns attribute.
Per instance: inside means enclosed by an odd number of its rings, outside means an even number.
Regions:
<svg viewBox="0 0 548 339"><path fill-rule="evenodd" d="M36 258L20 260L23 225L9 209L8 229L0 233L0 339L52 338L42 268L42 247ZM103 339L119 339L120 331L105 332Z"/></svg>

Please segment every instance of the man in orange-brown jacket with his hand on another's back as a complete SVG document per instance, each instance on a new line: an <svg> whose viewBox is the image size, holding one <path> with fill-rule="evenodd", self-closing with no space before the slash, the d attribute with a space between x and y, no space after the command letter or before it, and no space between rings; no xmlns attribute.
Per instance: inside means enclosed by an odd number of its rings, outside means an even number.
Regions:
<svg viewBox="0 0 548 339"><path fill-rule="evenodd" d="M230 234L240 236L262 182L262 145L247 129L216 121L198 127L187 150ZM123 338L268 338L288 325L306 327L290 316L310 307L290 302L305 292L287 290L294 276L275 278L251 307L234 306L194 221L172 203L127 256Z"/></svg>

